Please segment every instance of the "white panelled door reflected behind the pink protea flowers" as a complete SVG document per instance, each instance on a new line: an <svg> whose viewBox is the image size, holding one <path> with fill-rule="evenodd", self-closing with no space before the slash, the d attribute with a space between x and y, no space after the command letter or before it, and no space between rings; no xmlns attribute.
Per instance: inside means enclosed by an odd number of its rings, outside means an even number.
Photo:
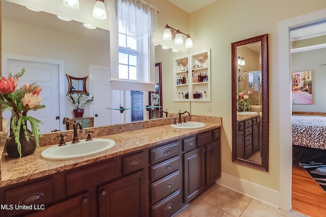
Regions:
<svg viewBox="0 0 326 217"><path fill-rule="evenodd" d="M25 74L18 79L18 86L37 81L43 90L40 96L43 98L41 105L46 108L29 111L28 115L39 119L41 133L49 133L60 129L59 114L59 65L36 63L32 61L20 61L8 59L8 73L16 74L25 68Z"/></svg>

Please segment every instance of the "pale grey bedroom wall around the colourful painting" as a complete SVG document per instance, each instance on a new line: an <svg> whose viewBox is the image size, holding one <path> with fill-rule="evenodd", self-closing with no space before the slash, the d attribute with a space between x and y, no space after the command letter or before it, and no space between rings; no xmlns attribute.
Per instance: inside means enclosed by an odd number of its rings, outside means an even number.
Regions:
<svg viewBox="0 0 326 217"><path fill-rule="evenodd" d="M291 54L292 72L312 71L312 105L293 104L293 111L326 112L326 48Z"/></svg>

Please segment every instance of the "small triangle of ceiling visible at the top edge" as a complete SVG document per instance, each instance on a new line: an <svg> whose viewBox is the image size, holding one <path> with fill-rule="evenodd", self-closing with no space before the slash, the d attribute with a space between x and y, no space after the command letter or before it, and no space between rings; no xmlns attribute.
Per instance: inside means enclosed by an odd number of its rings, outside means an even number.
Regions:
<svg viewBox="0 0 326 217"><path fill-rule="evenodd" d="M168 2L191 14L218 0L168 0Z"/></svg>

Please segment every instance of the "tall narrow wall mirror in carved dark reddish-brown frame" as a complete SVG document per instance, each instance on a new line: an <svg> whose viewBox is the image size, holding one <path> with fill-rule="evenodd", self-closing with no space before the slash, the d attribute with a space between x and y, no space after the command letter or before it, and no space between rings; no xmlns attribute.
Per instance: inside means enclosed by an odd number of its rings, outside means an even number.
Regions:
<svg viewBox="0 0 326 217"><path fill-rule="evenodd" d="M268 171L268 35L231 43L232 161Z"/></svg>

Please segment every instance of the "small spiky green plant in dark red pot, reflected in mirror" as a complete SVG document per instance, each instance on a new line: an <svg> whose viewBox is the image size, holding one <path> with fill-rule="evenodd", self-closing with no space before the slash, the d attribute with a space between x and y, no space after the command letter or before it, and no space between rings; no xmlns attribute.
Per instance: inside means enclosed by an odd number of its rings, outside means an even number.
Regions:
<svg viewBox="0 0 326 217"><path fill-rule="evenodd" d="M75 117L83 117L84 115L84 108L89 106L93 100L94 97L90 98L89 92L86 92L86 94L70 94L69 98L71 100L72 105L74 106L73 115Z"/></svg>

